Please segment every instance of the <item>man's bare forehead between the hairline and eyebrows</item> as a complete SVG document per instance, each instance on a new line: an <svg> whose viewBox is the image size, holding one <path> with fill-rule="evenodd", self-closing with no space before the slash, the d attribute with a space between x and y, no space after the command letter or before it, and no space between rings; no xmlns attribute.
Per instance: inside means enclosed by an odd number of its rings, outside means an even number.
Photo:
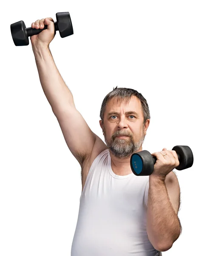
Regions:
<svg viewBox="0 0 210 256"><path fill-rule="evenodd" d="M142 112L142 105L140 99L136 96L131 96L130 99L112 98L106 105L106 111L136 111Z"/></svg>

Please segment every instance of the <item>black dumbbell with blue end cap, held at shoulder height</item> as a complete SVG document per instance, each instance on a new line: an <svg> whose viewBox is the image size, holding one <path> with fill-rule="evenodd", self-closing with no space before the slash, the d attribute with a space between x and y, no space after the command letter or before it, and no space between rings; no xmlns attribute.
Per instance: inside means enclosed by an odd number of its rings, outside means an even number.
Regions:
<svg viewBox="0 0 210 256"><path fill-rule="evenodd" d="M176 151L179 159L177 170L184 170L193 165L193 152L188 146L175 146L172 150ZM142 150L131 155L131 170L136 176L151 175L157 158L153 157L149 151Z"/></svg>

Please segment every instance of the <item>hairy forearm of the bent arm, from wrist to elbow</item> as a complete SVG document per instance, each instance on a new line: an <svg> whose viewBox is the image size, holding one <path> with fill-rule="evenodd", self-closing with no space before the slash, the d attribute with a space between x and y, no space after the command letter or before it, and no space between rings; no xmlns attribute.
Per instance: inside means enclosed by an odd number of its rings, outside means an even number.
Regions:
<svg viewBox="0 0 210 256"><path fill-rule="evenodd" d="M180 234L179 218L170 202L165 181L152 175L149 177L147 231L150 242L162 251L168 250Z"/></svg>

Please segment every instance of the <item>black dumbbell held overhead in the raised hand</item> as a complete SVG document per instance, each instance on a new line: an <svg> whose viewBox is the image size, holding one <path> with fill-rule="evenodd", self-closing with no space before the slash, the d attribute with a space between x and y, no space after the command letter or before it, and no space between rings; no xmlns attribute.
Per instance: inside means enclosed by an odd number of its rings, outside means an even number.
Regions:
<svg viewBox="0 0 210 256"><path fill-rule="evenodd" d="M57 30L59 30L62 38L74 34L69 12L57 12L56 19L57 22L54 22L55 34ZM47 29L47 25L45 25L43 29L32 29L31 27L26 28L23 20L20 20L11 24L10 29L14 44L16 46L23 46L29 44L29 36L39 34L44 29Z"/></svg>

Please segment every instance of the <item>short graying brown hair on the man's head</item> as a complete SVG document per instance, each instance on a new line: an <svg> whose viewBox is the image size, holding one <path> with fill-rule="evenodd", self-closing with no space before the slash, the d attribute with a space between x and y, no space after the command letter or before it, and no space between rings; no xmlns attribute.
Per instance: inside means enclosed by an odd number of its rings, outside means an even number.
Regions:
<svg viewBox="0 0 210 256"><path fill-rule="evenodd" d="M146 99L142 96L141 93L137 92L136 90L130 89L130 88L113 88L113 90L108 93L101 105L101 110L100 110L100 118L102 120L102 123L104 122L104 113L106 109L106 104L112 99L116 98L117 102L122 102L123 100L126 100L126 103L128 103L131 99L132 96L136 96L142 105L142 111L144 115L144 125L147 119L150 119L150 111L148 107L148 103Z"/></svg>

